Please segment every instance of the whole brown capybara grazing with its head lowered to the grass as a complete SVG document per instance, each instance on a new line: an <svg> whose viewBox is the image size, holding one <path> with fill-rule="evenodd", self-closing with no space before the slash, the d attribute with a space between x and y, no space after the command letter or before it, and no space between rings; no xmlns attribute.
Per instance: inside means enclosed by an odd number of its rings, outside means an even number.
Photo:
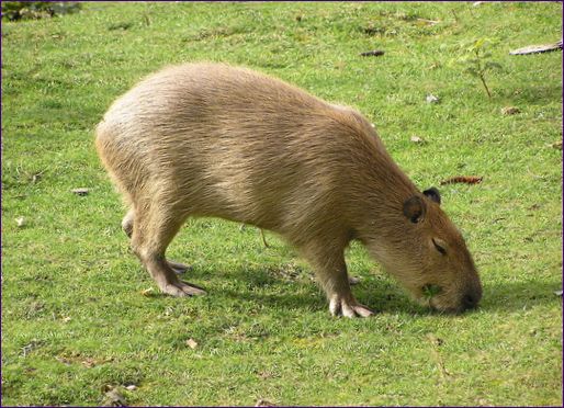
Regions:
<svg viewBox="0 0 564 408"><path fill-rule="evenodd" d="M204 293L165 251L187 217L213 216L295 246L332 315L372 315L349 286L353 239L432 308L458 313L482 297L437 189L421 193L360 113L281 80L224 64L165 68L112 104L95 145L129 207L132 249L169 295Z"/></svg>

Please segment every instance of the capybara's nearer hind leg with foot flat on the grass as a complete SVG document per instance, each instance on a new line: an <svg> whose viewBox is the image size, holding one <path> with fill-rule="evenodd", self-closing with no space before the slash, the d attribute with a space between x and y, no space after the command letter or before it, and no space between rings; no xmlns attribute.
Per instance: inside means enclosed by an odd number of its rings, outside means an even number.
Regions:
<svg viewBox="0 0 564 408"><path fill-rule="evenodd" d="M137 209L132 248L150 273L160 291L172 296L193 296L205 293L201 287L180 281L165 252L183 219L158 200L145 212ZM173 264L177 264L176 262Z"/></svg>

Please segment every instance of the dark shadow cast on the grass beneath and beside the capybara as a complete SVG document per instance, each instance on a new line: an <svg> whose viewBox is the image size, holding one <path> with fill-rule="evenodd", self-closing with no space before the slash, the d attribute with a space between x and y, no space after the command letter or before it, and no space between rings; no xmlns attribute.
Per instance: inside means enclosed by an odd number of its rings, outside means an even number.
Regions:
<svg viewBox="0 0 564 408"><path fill-rule="evenodd" d="M323 292L315 282L309 280L309 273L301 271L294 279L287 276L284 267L251 268L218 273L226 280L245 282L247 290L223 290L223 295L237 298L241 302L252 302L272 308L304 308L304 310L325 309L327 303ZM195 272L199 279L205 276ZM188 276L187 276L188 277ZM306 285L301 293L289 294L292 287ZM269 293L261 288L269 287ZM555 294L561 290L562 282L530 281L510 283L485 283L484 297L480 305L481 311L514 313L531 309L551 303L561 303L562 296ZM212 287L208 290L213 291ZM360 284L352 286L357 299L377 313L405 313L410 315L428 316L440 314L419 306L399 287L390 280L365 279Z"/></svg>

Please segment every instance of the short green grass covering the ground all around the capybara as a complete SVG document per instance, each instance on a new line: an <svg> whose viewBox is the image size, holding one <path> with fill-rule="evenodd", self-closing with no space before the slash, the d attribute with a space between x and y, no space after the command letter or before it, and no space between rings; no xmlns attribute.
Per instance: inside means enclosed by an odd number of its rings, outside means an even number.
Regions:
<svg viewBox="0 0 564 408"><path fill-rule="evenodd" d="M562 139L562 55L508 55L559 39L561 13L560 3L84 3L2 23L2 405L99 405L103 387L131 384L131 405L562 405L562 151L551 147ZM487 77L492 99L451 64L461 42L484 35L504 67ZM386 54L358 55L376 48ZM255 228L217 219L190 220L169 249L208 295L158 295L120 229L92 131L143 76L202 59L359 109L421 189L483 175L441 189L480 269L482 307L429 313L353 243L353 291L379 313L331 318L292 248L271 234L264 248ZM426 103L429 93L441 102ZM90 194L70 192L79 186Z"/></svg>

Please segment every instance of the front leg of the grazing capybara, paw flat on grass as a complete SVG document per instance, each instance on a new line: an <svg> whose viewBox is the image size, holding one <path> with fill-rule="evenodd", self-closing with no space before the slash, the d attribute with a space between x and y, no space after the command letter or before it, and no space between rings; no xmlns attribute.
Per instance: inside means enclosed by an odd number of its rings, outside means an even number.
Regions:
<svg viewBox="0 0 564 408"><path fill-rule="evenodd" d="M350 290L345 248L335 249L326 242L306 246L304 253L314 268L317 281L322 285L332 316L369 317L373 311L359 304Z"/></svg>

